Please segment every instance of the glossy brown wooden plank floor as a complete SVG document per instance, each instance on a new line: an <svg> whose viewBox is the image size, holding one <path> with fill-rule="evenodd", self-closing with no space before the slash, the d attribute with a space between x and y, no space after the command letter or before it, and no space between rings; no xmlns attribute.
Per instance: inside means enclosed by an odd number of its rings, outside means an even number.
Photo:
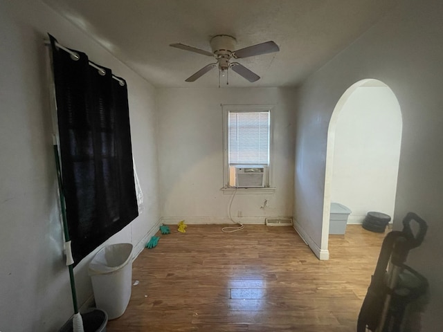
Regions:
<svg viewBox="0 0 443 332"><path fill-rule="evenodd" d="M139 284L108 332L354 332L384 238L348 225L319 261L289 226L171 231L134 261Z"/></svg>

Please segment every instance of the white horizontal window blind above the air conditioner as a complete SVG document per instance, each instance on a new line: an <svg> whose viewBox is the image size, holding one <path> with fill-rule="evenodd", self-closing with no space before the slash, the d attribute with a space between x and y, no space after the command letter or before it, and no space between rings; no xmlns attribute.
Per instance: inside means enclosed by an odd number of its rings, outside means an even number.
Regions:
<svg viewBox="0 0 443 332"><path fill-rule="evenodd" d="M269 165L269 111L228 113L228 163Z"/></svg>

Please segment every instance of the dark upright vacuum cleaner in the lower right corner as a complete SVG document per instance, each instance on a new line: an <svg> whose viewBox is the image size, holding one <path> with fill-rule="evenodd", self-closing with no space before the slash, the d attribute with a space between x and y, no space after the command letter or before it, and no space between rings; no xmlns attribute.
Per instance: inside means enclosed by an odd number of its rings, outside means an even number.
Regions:
<svg viewBox="0 0 443 332"><path fill-rule="evenodd" d="M386 235L361 306L357 332L420 331L417 323L428 281L405 263L409 251L422 244L427 229L426 221L409 212L403 219L403 230Z"/></svg>

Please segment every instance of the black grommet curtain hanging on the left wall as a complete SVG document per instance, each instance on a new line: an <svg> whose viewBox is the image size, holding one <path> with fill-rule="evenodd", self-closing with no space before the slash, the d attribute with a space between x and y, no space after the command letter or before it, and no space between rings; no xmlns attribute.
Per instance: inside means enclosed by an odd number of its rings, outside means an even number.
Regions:
<svg viewBox="0 0 443 332"><path fill-rule="evenodd" d="M50 35L66 220L75 265L138 216L125 80Z"/></svg>

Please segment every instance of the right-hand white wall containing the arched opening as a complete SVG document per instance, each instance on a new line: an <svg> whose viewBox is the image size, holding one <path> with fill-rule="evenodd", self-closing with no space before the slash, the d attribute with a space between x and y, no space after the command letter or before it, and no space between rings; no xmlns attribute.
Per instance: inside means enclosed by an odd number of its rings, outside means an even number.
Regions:
<svg viewBox="0 0 443 332"><path fill-rule="evenodd" d="M349 86L364 78L386 83L399 100L403 117L395 228L406 212L429 225L410 264L431 284L431 303L422 331L443 329L443 29L440 0L399 1L351 46L302 84L297 117L294 217L319 248L325 193L327 129L332 111ZM368 281L370 276L368 276Z"/></svg>

